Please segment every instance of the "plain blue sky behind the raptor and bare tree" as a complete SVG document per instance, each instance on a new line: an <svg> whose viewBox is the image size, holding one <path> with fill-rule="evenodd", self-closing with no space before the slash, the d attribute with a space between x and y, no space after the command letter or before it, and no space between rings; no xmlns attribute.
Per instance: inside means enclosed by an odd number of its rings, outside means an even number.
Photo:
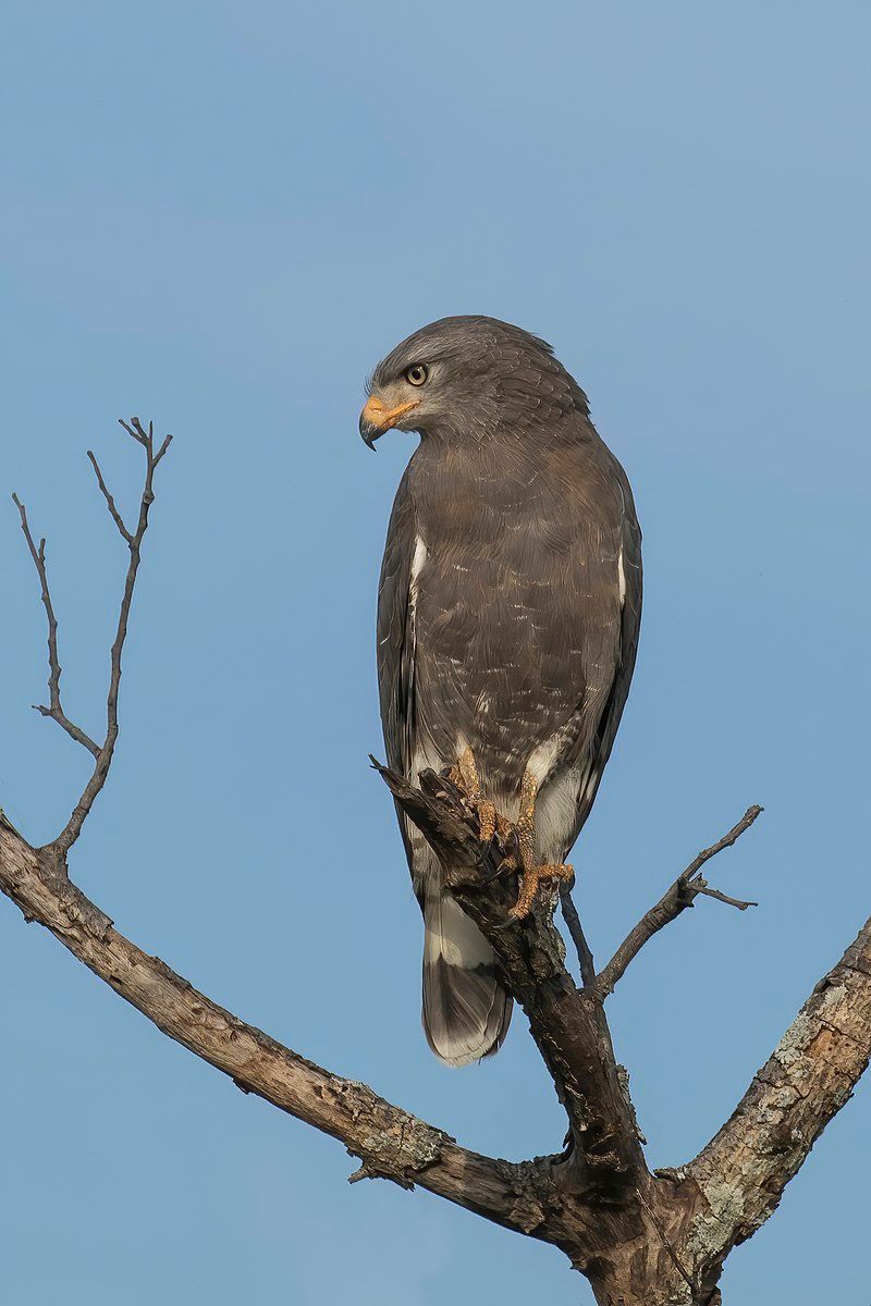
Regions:
<svg viewBox="0 0 871 1306"><path fill-rule="evenodd" d="M73 874L247 1020L462 1143L563 1119L525 1029L447 1071L379 751L377 569L413 438L356 434L401 337L483 312L550 340L645 530L641 654L573 858L597 956L751 802L713 871L759 897L670 927L611 1003L653 1165L729 1115L868 910L863 3L3 7L0 803L56 833L87 756L124 550L94 448L161 466L115 768ZM3 507L5 503L5 507ZM337 794L342 795L337 803ZM165 1040L0 902L0 1243L16 1306L589 1306L552 1249L349 1187L325 1139ZM727 1306L867 1299L871 1088Z"/></svg>

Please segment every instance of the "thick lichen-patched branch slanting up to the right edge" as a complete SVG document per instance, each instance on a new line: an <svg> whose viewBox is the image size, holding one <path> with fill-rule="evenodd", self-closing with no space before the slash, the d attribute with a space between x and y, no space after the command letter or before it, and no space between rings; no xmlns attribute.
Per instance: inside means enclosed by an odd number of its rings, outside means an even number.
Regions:
<svg viewBox="0 0 871 1306"><path fill-rule="evenodd" d="M772 1215L871 1057L871 919L814 989L706 1148L680 1171L705 1207L696 1256L722 1263Z"/></svg>

